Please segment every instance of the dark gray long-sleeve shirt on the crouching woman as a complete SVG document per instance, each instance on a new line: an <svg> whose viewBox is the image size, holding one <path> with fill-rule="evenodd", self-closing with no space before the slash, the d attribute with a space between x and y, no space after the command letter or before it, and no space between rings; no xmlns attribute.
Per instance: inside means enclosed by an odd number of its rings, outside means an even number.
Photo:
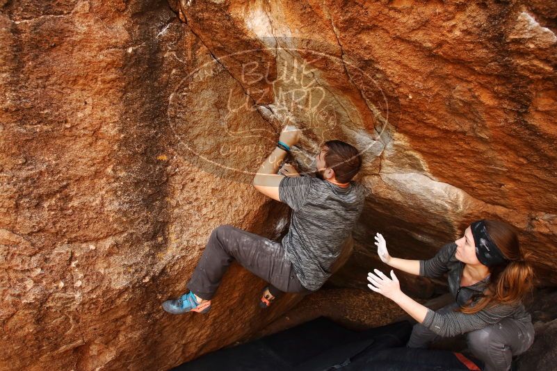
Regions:
<svg viewBox="0 0 557 371"><path fill-rule="evenodd" d="M456 244L452 242L444 245L433 258L420 261L420 276L433 278L447 273L449 290L456 303L459 306L465 306L469 299L472 299L472 305L474 305L479 299L474 295L483 293L490 283L490 278L487 277L471 286L460 286L460 277L462 277L465 263L455 258L455 252ZM460 333L483 329L507 317L521 322L531 322L531 316L526 312L524 305L495 304L472 314L460 311L437 313L428 309L422 324L440 336L456 336Z"/></svg>

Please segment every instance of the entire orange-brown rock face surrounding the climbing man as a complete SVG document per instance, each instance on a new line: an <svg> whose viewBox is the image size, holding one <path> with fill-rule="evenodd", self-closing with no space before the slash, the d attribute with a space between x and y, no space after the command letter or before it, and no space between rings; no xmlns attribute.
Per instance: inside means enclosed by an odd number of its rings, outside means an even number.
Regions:
<svg viewBox="0 0 557 371"><path fill-rule="evenodd" d="M369 195L335 284L380 266L376 231L394 255L425 258L477 217L517 226L556 283L552 3L0 0L0 12L2 369L163 370L292 308L299 297L257 311L263 283L236 266L210 315L159 306L215 226L284 229L286 209L248 182L288 121L305 129L302 168L323 140L366 149Z"/></svg>

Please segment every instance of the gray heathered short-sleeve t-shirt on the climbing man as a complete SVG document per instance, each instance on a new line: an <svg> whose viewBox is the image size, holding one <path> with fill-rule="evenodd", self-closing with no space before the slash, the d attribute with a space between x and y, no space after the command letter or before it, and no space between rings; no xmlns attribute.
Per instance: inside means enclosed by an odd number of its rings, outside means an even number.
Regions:
<svg viewBox="0 0 557 371"><path fill-rule="evenodd" d="M362 212L364 187L350 182L341 188L311 176L286 176L279 197L292 208L290 229L282 238L286 258L302 286L318 290Z"/></svg>

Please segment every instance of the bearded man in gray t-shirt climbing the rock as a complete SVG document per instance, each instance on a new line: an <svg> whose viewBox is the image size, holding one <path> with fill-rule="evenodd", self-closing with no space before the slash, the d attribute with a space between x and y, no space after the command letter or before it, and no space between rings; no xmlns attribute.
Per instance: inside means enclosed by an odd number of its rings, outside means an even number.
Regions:
<svg viewBox="0 0 557 371"><path fill-rule="evenodd" d="M234 260L269 283L261 294L262 308L282 292L316 291L330 277L364 205L364 187L352 181L362 158L355 147L331 140L315 158L315 177L300 176L291 165L284 165L277 174L300 134L295 126L286 126L253 179L259 192L291 207L286 236L275 242L234 226L218 226L188 282L189 292L163 302L165 311L207 313Z"/></svg>

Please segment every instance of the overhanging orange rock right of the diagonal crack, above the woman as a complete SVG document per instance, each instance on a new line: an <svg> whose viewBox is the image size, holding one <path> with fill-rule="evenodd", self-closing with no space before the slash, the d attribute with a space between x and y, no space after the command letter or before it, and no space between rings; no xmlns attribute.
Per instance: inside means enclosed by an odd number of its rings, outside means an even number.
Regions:
<svg viewBox="0 0 557 371"><path fill-rule="evenodd" d="M281 76L296 74L292 60L313 60L312 86L324 88L321 106L332 108L337 124L325 136L368 149L362 176L370 190L368 217L356 234L367 242L364 250L380 230L401 254L426 257L471 220L501 217L521 229L542 279L554 282L548 273L557 239L557 8L412 3L175 1L173 7L247 92L264 87L245 79L243 55L228 57L239 43L241 50L271 48L254 59L261 74L276 66L268 83L275 92L300 90L303 83ZM284 94L267 95L255 101L280 112ZM312 148L313 122L287 110L309 128L302 146Z"/></svg>

